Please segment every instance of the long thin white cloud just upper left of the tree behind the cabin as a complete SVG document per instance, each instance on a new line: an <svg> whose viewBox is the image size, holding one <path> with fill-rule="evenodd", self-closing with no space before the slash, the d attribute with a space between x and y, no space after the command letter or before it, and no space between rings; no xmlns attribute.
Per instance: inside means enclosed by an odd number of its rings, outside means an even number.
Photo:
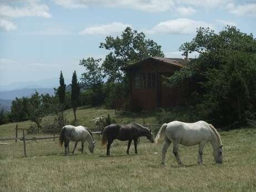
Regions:
<svg viewBox="0 0 256 192"><path fill-rule="evenodd" d="M130 24L124 24L120 22L112 22L110 24L104 24L101 26L87 27L83 29L80 35L112 35L124 31L126 27L131 27Z"/></svg>

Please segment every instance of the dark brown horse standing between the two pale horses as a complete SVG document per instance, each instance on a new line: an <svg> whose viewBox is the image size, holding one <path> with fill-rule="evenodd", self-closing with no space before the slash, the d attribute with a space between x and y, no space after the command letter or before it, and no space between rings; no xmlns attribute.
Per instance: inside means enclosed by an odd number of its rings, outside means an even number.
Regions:
<svg viewBox="0 0 256 192"><path fill-rule="evenodd" d="M107 156L110 155L110 145L115 139L120 141L128 140L128 147L126 153L129 154L131 141L134 140L135 154L137 154L137 140L141 136L146 136L148 140L154 142L151 130L139 124L131 123L126 125L111 124L106 126L103 130L101 145L107 144Z"/></svg>

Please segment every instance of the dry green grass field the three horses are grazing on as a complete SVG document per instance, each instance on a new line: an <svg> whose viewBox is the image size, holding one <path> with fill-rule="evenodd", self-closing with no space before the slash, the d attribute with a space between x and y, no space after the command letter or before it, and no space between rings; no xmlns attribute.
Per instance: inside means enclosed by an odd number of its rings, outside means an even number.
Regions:
<svg viewBox="0 0 256 192"><path fill-rule="evenodd" d="M85 107L77 111L78 124L91 127L90 119L110 114L119 123L129 121L156 123L154 114L114 115L114 111ZM72 111L67 111L72 120ZM47 117L45 120L51 120ZM21 122L27 127L30 122ZM0 126L0 138L12 137L16 124ZM87 125L88 127L90 127ZM111 156L100 146L95 136L95 152L81 154L78 144L75 155L63 155L58 141L27 142L27 158L23 144L11 141L0 146L0 191L255 191L256 189L256 129L220 132L224 146L224 161L215 165L210 144L204 149L204 164L196 164L198 147L180 146L178 166L172 149L166 154L166 167L160 165L163 144L140 140L138 153L133 143L126 155L127 142L115 140ZM72 150L71 145L71 150Z"/></svg>

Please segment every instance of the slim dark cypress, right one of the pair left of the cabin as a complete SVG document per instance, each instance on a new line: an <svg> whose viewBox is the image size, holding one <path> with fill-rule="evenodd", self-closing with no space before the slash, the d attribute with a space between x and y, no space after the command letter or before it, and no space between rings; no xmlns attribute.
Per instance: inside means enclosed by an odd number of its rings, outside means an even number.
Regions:
<svg viewBox="0 0 256 192"><path fill-rule="evenodd" d="M72 84L71 84L71 106L73 108L73 113L76 121L76 110L79 106L79 96L80 96L80 85L77 81L76 71L73 72Z"/></svg>

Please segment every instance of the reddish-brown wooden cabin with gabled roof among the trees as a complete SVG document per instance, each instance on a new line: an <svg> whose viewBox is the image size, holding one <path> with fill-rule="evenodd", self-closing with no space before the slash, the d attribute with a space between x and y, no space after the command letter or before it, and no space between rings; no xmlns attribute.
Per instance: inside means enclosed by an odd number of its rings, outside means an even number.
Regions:
<svg viewBox="0 0 256 192"><path fill-rule="evenodd" d="M182 58L149 57L123 68L130 77L130 105L133 109L152 110L156 107L174 107L185 102L187 83L170 88L163 76L185 67L189 60Z"/></svg>

